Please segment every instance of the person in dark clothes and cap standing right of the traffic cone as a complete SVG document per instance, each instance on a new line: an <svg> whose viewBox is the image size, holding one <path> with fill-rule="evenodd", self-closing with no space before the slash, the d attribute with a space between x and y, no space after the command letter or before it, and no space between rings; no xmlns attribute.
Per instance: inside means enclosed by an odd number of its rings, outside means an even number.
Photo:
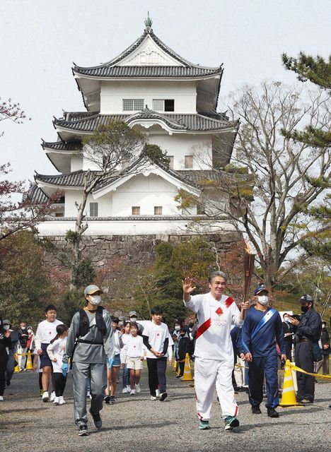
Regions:
<svg viewBox="0 0 331 452"><path fill-rule="evenodd" d="M314 362L317 361L313 355L314 347L318 346L320 331L322 329L322 319L320 314L313 308L313 298L305 294L299 300L303 315L298 321L289 316L292 325L296 326L296 366L306 372L313 373ZM298 381L298 402L313 403L315 396L315 378L311 375L296 372Z"/></svg>

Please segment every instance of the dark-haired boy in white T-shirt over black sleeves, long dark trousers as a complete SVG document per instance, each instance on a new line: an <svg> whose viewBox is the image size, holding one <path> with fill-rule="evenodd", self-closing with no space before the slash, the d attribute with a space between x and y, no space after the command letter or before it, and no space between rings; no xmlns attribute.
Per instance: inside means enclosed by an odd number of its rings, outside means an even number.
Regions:
<svg viewBox="0 0 331 452"><path fill-rule="evenodd" d="M159 306L151 309L151 322L146 323L143 331L144 345L147 349L147 367L149 368L149 391L151 400L156 400L156 390L159 386L160 401L168 397L166 391L165 369L167 361L172 360L170 343L172 339L168 326L162 323L162 308ZM170 354L170 355L169 355ZM169 356L169 358L168 358Z"/></svg>

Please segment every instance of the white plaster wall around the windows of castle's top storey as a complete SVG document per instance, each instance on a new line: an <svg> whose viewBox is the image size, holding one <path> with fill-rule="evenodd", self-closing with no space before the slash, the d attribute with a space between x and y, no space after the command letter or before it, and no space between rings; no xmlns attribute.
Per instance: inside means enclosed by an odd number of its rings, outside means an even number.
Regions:
<svg viewBox="0 0 331 452"><path fill-rule="evenodd" d="M144 99L149 109L153 99L175 99L175 113L196 113L196 97L194 81L108 81L101 83L100 113L130 113L123 112L123 99Z"/></svg>

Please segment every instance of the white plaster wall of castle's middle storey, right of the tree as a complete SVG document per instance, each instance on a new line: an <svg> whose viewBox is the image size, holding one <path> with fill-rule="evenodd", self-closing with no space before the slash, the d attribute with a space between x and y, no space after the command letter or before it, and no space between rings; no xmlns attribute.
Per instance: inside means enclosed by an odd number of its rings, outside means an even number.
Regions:
<svg viewBox="0 0 331 452"><path fill-rule="evenodd" d="M193 155L192 169L211 168L211 138L208 135L152 135L149 143L157 144L173 155L173 169L185 168L185 155Z"/></svg>

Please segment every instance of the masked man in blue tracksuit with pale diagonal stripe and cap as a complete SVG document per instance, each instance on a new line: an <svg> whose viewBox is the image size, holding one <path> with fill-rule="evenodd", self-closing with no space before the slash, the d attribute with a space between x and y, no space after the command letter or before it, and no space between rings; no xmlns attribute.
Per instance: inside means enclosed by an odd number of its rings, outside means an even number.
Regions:
<svg viewBox="0 0 331 452"><path fill-rule="evenodd" d="M248 309L242 328L242 343L248 361L248 388L252 413L260 414L263 400L263 376L267 385L267 412L269 417L279 417L276 341L281 359L286 359L281 317L276 309L267 307L268 290L264 286L254 291L255 306Z"/></svg>

